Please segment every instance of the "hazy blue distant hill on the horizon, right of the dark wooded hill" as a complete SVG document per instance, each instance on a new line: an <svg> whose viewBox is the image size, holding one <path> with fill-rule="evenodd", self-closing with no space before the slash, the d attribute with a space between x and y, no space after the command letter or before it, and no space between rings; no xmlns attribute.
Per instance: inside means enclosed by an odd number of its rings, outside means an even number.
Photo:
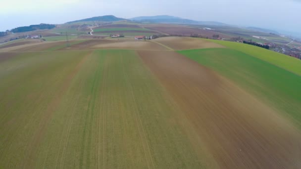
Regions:
<svg viewBox="0 0 301 169"><path fill-rule="evenodd" d="M169 15L158 15L158 16L140 16L131 18L132 21L139 22L150 22L150 23L173 23L173 24L197 24L197 25L216 25L216 26L229 26L224 23L214 21L195 21L191 19L183 19L180 17L169 16Z"/></svg>

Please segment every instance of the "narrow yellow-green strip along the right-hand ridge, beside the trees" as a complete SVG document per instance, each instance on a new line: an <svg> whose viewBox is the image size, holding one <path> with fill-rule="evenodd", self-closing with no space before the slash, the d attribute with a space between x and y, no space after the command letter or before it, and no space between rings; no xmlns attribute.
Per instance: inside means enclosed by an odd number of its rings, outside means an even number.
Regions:
<svg viewBox="0 0 301 169"><path fill-rule="evenodd" d="M301 75L301 60L294 57L290 57L278 52L267 50L261 47L243 44L238 42L228 42L228 41L217 41L217 40L208 40L210 42L215 42L221 45L224 45L230 49L235 49L246 54L249 54L253 57L257 57L261 60L269 62L275 66L286 69L297 75Z"/></svg>

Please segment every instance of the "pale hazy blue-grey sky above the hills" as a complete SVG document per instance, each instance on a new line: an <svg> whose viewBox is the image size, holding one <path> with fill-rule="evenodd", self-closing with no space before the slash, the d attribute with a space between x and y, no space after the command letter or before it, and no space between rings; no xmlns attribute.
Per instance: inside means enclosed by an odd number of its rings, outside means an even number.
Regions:
<svg viewBox="0 0 301 169"><path fill-rule="evenodd" d="M0 0L0 6L0 31L110 14L166 14L301 33L301 0Z"/></svg>

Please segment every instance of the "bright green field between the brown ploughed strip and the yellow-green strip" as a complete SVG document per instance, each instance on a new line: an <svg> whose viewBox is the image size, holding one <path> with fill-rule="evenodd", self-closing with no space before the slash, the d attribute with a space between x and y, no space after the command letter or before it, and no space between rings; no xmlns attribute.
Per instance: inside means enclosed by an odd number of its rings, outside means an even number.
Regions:
<svg viewBox="0 0 301 169"><path fill-rule="evenodd" d="M179 53L216 71L257 98L285 112L286 116L301 127L301 76L234 49L196 49Z"/></svg>

